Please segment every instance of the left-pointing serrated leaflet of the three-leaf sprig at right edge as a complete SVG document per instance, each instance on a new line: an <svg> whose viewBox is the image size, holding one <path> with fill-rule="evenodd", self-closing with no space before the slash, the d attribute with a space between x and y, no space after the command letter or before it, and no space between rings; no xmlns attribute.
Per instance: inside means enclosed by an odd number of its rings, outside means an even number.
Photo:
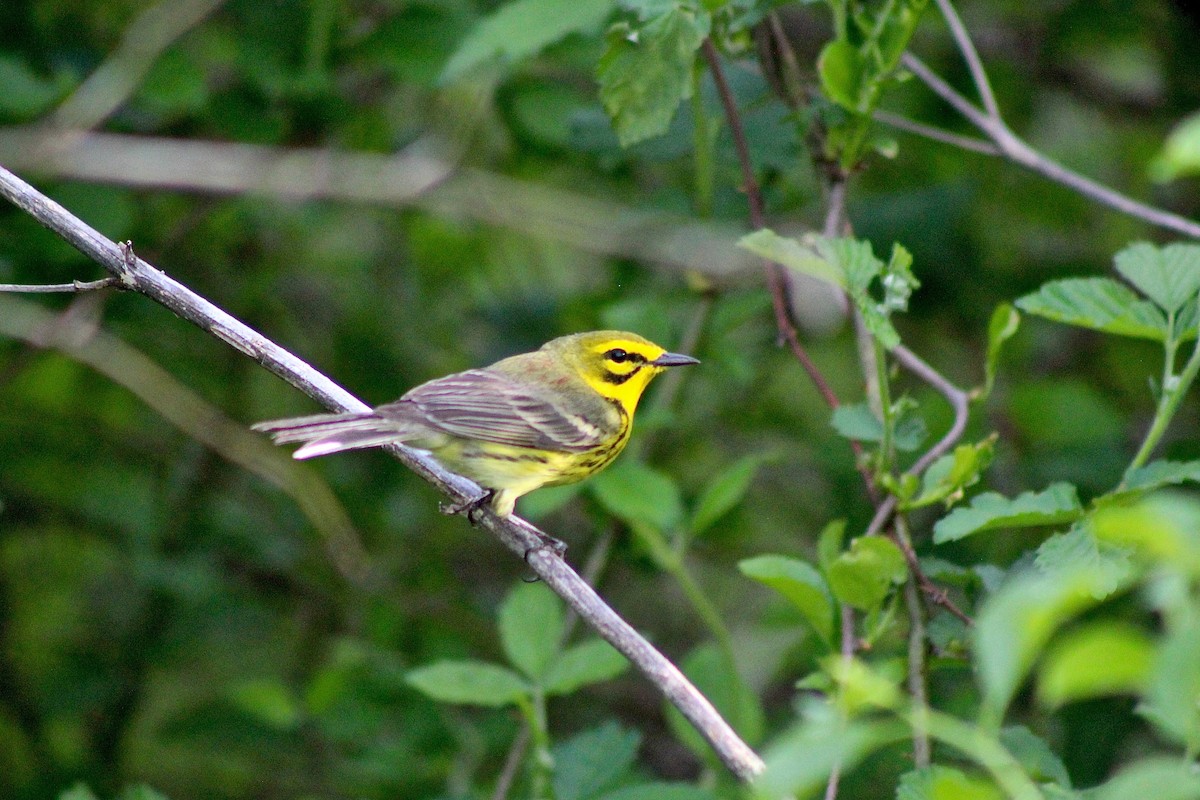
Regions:
<svg viewBox="0 0 1200 800"><path fill-rule="evenodd" d="M1056 323L1117 336L1162 342L1166 335L1163 312L1111 278L1051 281L1018 300L1016 307Z"/></svg>

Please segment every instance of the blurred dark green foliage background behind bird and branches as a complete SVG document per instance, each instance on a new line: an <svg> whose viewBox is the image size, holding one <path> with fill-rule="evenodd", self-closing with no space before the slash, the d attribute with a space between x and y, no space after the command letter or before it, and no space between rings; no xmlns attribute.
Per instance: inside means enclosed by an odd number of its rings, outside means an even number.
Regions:
<svg viewBox="0 0 1200 800"><path fill-rule="evenodd" d="M169 17L200 5L160 8ZM468 0L215 5L145 65L100 130L280 149L418 148L504 180L451 178L385 203L210 193L186 180L146 188L133 164L128 180L84 180L84 168L71 173L18 134L50 119L114 53L137 53L150 34L144 4L130 0L5 4L0 163L368 402L578 330L692 344L703 366L679 384L660 380L619 471L522 509L571 545L576 565L611 545L601 594L685 660L702 688L702 675L725 674L712 646L720 634L704 618L715 615L755 699L721 680L710 688L728 692L716 699L734 709L750 744L776 738L794 718L796 680L824 650L796 608L737 565L763 553L815 561L829 521L845 518L847 537L857 536L872 509L829 410L776 345L754 261L743 253L728 271L698 271L661 255L697 230L731 242L748 229L709 78L655 76L676 94L695 85L695 100L664 136L623 148L646 121L618 114L614 130L605 114L606 104L629 107L612 78L629 65L611 46L628 31L610 31L606 50L611 4L546 2L532 28L496 13L498 4ZM1200 22L1181 8L1076 0L960 11L1013 130L1086 175L1195 218L1195 178L1151 179L1166 134L1200 106ZM816 85L828 11L781 11ZM822 176L805 126L772 94L749 38L724 44L773 227L820 229ZM936 14L926 12L912 49L968 85ZM890 86L883 107L965 132L916 80ZM697 125L709 126L707 139ZM848 217L876 253L893 242L912 252L922 285L896 326L960 386L983 381L998 303L1051 278L1111 276L1128 242L1170 240L1001 160L878 132L899 150L853 176ZM707 163L695 157L701 140L713 144ZM0 207L0 282L98 276ZM853 332L836 301L820 289L804 295L805 345L844 399L862 401ZM245 425L314 411L312 403L145 299L36 297L41 308L71 308L72 335L100 324L136 351L101 349L90 360L31 345L58 329L26 313L35 301L0 300L0 796L56 796L80 781L101 796L145 783L178 800L490 796L526 717L439 703L414 687L413 670L460 660L521 666L528 651L498 634L497 615L524 565L438 515L436 494L382 453L295 467L262 446ZM1153 415L1147 380L1159 360L1147 342L1026 320L966 437L1001 434L986 488L1015 497L1069 481L1086 500L1115 486ZM907 378L898 384L940 435L949 411L937 396ZM180 387L238 425L199 416L206 411ZM200 444L146 399L217 440ZM1160 455L1200 458L1198 422L1186 399ZM230 461L245 449L254 469ZM914 513L918 552L970 567L1027 561L1046 537L1022 529L935 546L935 519ZM662 531L670 542L655 537ZM1122 624L1153 624L1132 596L1105 609ZM902 648L902 634L890 630L875 646ZM952 634L938 640L931 699L971 717L979 691ZM576 632L572 643L586 638ZM1142 654L1130 639L1120 644ZM584 682L542 709L556 796L626 796L622 787L641 787L628 798L736 796L638 675ZM1046 711L1021 693L1012 717L1082 787L1158 741L1129 694ZM601 764L578 777L589 757ZM841 796L890 796L907 758L904 742L880 751L846 777ZM528 796L533 780L522 772L514 796ZM901 792L914 794L898 796L991 796L917 783L906 778Z"/></svg>

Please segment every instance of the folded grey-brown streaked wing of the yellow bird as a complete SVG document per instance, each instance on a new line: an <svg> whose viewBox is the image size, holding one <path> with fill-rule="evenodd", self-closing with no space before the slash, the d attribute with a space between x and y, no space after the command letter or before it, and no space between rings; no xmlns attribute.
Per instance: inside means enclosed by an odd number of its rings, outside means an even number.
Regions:
<svg viewBox="0 0 1200 800"><path fill-rule="evenodd" d="M414 387L376 409L383 419L419 420L436 431L514 447L583 452L598 446L608 426L564 411L511 378L470 369Z"/></svg>

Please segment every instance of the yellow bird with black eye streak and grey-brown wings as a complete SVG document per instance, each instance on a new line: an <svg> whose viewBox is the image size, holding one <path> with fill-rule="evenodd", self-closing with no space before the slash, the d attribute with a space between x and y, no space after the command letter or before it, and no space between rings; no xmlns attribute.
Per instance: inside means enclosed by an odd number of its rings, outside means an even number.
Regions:
<svg viewBox="0 0 1200 800"><path fill-rule="evenodd" d="M294 458L389 444L426 451L482 493L448 511L485 504L499 517L544 486L589 477L629 441L637 402L671 367L700 363L626 331L551 339L479 369L415 386L366 413L259 422L275 444L301 443Z"/></svg>

